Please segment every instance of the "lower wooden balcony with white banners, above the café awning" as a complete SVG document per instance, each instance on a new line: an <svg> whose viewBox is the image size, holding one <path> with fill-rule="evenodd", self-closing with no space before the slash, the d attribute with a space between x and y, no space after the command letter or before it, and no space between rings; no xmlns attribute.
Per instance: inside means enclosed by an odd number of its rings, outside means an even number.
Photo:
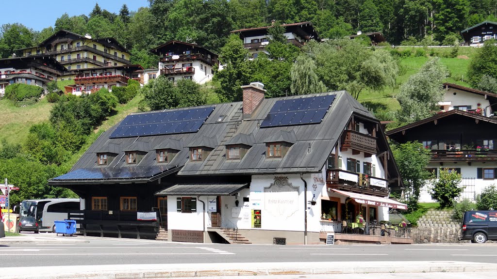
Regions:
<svg viewBox="0 0 497 279"><path fill-rule="evenodd" d="M327 192L337 189L379 197L388 195L386 179L340 169L328 170L326 188Z"/></svg>

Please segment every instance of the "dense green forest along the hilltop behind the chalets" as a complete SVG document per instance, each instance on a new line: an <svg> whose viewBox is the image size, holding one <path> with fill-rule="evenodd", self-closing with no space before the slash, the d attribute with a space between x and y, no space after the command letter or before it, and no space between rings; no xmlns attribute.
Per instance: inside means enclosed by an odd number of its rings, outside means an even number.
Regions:
<svg viewBox="0 0 497 279"><path fill-rule="evenodd" d="M156 67L148 51L168 40L195 42L220 52L230 31L311 21L322 38L381 31L390 44L428 41L454 45L460 31L484 20L497 21L497 0L148 0L149 6L119 13L98 3L88 15L62 14L53 26L32 30L22 23L1 26L0 57L38 45L66 29L95 38L115 37L132 53L131 62ZM426 44L426 43L425 43Z"/></svg>

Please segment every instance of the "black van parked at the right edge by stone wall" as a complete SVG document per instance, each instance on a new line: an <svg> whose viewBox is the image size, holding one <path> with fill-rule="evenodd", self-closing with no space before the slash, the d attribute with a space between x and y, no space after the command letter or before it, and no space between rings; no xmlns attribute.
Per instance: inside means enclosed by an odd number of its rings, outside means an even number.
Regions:
<svg viewBox="0 0 497 279"><path fill-rule="evenodd" d="M466 211L461 224L460 240L471 240L472 243L497 240L497 210Z"/></svg>

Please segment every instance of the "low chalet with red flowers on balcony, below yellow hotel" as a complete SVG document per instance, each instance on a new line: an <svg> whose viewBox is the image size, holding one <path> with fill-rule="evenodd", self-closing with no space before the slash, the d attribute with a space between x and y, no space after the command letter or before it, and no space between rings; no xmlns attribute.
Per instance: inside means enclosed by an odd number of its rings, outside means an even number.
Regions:
<svg viewBox="0 0 497 279"><path fill-rule="evenodd" d="M136 72L143 71L140 65L107 66L90 69L75 70L75 85L72 86L74 95L93 93L101 88L112 91L112 86L127 86L128 79L133 78ZM140 80L140 76L135 77Z"/></svg>

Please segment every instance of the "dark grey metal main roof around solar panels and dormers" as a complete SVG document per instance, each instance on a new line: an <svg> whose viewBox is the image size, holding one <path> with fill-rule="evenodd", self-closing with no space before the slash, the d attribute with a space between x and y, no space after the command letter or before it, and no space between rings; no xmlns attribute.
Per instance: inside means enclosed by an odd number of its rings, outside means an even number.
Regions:
<svg viewBox="0 0 497 279"><path fill-rule="evenodd" d="M334 94L336 98L321 123L260 127L260 123L278 100L324 96L327 94ZM340 139L343 131L347 128L346 126L352 116L370 120L380 125L380 122L374 119L367 109L345 91L263 99L251 117L246 117L245 119L242 102L201 107L211 106L215 106L214 111L196 133L109 139L119 125L117 124L102 134L88 148L73 167L73 171L92 168L100 171L102 166L96 164L95 153L101 150L102 146L107 146L106 150L110 150L111 145L109 143L114 144L114 149L112 150L116 152L117 156L104 168L126 169L129 165L126 164L124 149L122 148L130 146L136 140L148 140L152 147L164 146L168 148L171 146L174 149L178 148L179 152L164 166L167 169L179 167L178 175L320 172L337 140ZM217 121L220 116L225 117L221 121ZM266 158L267 147L265 142L273 136L278 140L283 139L294 142L282 158ZM181 141L183 143L178 144ZM226 144L231 144L232 142L251 143L251 147L242 159L226 159ZM378 144L380 149L390 152L384 135L383 137L378 137ZM189 146L207 146L213 148L213 150L203 161L190 161ZM103 148L105 149L105 147ZM389 160L389 165L390 162L394 164L392 160ZM158 165L164 165L164 163L158 164L156 151L150 149L137 164L137 167L156 167ZM395 168L395 165L389 166L389 168ZM394 172L392 169L389 173L398 172ZM87 178L83 176L76 177L74 178L74 183L80 183L85 179ZM101 179L105 178L102 177ZM49 181L49 184L56 184L54 181L58 180L60 180L60 177Z"/></svg>

